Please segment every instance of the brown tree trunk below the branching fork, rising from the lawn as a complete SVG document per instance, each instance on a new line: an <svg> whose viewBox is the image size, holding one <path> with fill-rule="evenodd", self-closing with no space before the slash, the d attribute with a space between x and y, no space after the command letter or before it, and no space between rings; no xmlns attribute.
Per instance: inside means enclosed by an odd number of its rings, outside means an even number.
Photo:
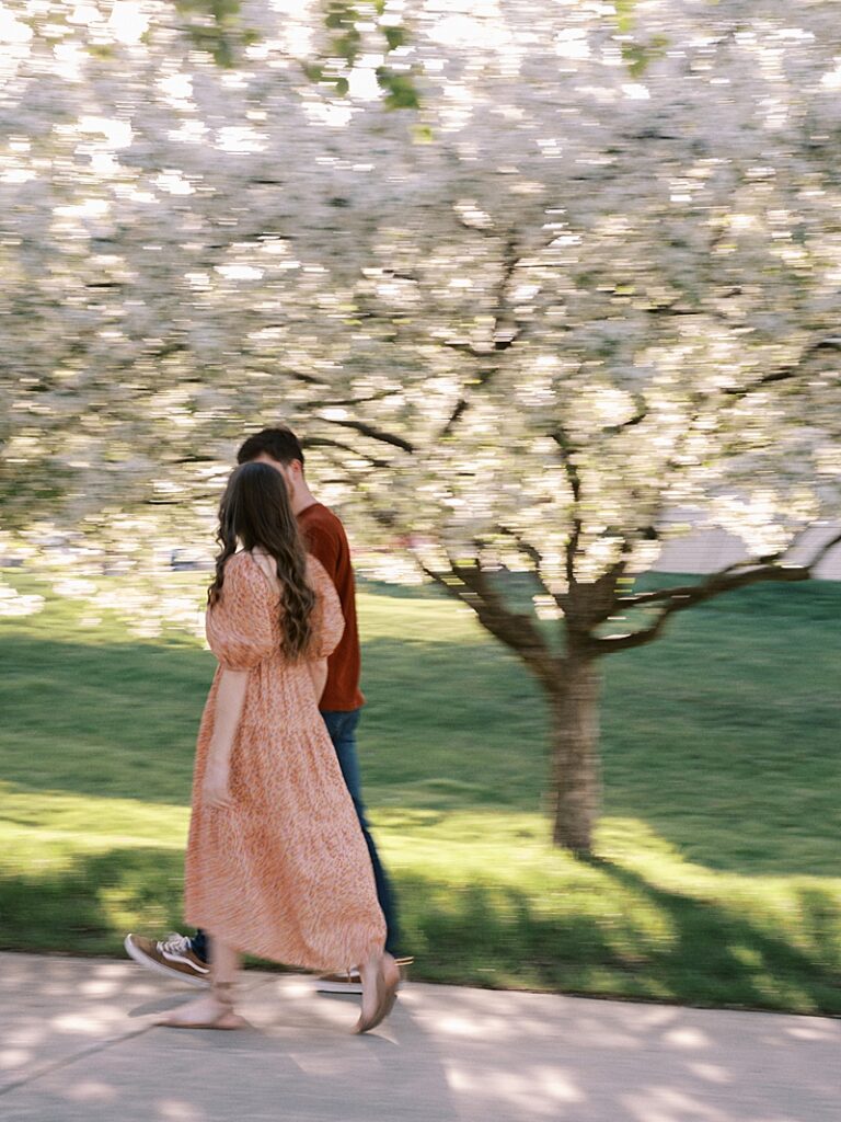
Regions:
<svg viewBox="0 0 841 1122"><path fill-rule="evenodd" d="M598 662L579 654L564 660L549 698L552 715L552 817L555 845L591 853L601 801Z"/></svg>

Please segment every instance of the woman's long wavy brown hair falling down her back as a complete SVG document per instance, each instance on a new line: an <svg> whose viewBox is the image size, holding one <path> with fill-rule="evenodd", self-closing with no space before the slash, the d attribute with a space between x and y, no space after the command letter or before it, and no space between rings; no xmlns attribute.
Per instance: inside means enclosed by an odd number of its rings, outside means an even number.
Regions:
<svg viewBox="0 0 841 1122"><path fill-rule="evenodd" d="M221 596L224 564L237 552L238 542L246 550L261 546L275 559L280 580L284 652L288 659L299 659L312 637L315 592L306 580L306 552L279 471L268 463L250 462L231 472L219 504L216 541L216 577L207 589L207 604L214 605Z"/></svg>

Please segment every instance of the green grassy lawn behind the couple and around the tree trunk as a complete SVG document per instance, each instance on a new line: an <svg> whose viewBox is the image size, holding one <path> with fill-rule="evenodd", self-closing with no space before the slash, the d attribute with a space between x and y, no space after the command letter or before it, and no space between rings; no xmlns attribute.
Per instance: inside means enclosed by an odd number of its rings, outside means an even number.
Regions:
<svg viewBox="0 0 841 1122"><path fill-rule="evenodd" d="M841 1013L840 611L833 585L749 589L608 660L581 862L547 844L519 663L441 597L367 586L360 747L414 976ZM183 926L213 659L83 614L1 624L3 948L119 954Z"/></svg>

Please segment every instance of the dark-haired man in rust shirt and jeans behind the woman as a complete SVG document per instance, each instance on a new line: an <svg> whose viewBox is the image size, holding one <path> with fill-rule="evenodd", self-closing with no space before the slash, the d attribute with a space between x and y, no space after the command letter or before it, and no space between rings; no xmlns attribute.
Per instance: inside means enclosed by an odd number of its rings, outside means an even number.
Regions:
<svg viewBox="0 0 841 1122"><path fill-rule="evenodd" d="M386 950L395 955L398 964L406 965L409 959L397 957L398 931L394 892L377 854L362 803L357 760L357 726L364 698L359 689L357 599L348 537L339 518L318 503L309 490L304 475L304 452L295 433L285 427L264 429L262 432L249 436L237 453L237 462L247 463L252 460L270 465L286 480L292 508L298 519L306 548L324 565L339 592L344 615L344 634L327 661L327 682L318 707L333 741L371 856L377 895L386 918ZM137 963L149 969L182 978L194 985L206 985L209 982L209 950L203 931L196 931L192 938L173 935L169 939L159 941L128 935L124 946ZM362 988L355 971L349 974L326 975L318 980L317 987L325 993L361 993Z"/></svg>

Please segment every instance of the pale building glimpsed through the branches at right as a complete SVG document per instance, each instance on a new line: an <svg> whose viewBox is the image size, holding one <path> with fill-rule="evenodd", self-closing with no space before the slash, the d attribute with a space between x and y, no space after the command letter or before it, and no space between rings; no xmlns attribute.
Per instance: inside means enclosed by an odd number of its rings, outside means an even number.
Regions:
<svg viewBox="0 0 841 1122"><path fill-rule="evenodd" d="M686 521L692 521L687 518ZM796 550L792 550L794 562L808 561L824 542L841 533L841 523L816 523L803 535ZM710 573L743 561L749 557L741 537L718 526L703 526L667 542L654 565L655 572ZM835 545L815 569L821 580L841 580L841 544Z"/></svg>

